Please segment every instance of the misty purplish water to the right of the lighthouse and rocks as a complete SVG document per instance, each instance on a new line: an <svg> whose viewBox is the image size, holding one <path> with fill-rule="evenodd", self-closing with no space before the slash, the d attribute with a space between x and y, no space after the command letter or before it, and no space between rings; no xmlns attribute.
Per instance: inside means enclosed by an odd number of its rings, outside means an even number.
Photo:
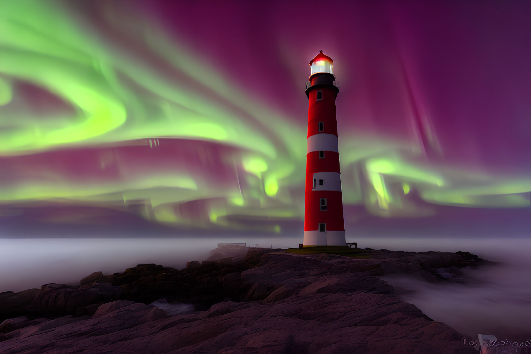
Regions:
<svg viewBox="0 0 531 354"><path fill-rule="evenodd" d="M463 269L464 284L431 284L407 276L382 276L424 314L461 334L494 334L499 340L531 340L531 240L502 239L379 239L372 248L411 251L468 251L502 262Z"/></svg>

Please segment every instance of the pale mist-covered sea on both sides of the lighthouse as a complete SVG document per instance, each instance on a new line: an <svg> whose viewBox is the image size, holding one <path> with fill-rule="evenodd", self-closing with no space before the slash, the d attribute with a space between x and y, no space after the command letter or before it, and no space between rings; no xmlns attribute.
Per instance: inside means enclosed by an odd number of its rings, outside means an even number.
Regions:
<svg viewBox="0 0 531 354"><path fill-rule="evenodd" d="M302 237L0 239L0 292L40 288L46 283L78 283L92 272L123 272L140 263L182 269L190 260L208 258L218 242L297 247ZM383 276L400 297L427 316L474 336L531 339L531 240L523 238L369 238L348 242L374 249L469 251L501 265L465 269L466 284L430 284L407 276Z"/></svg>

